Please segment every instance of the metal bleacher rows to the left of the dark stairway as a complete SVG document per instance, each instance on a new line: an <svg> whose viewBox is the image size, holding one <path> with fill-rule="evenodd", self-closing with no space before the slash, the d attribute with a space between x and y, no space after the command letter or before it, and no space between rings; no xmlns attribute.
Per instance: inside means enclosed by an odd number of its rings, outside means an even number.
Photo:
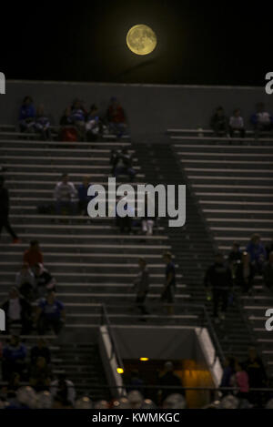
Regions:
<svg viewBox="0 0 273 427"><path fill-rule="evenodd" d="M75 184L88 175L92 183L107 185L113 148L128 147L136 157L129 142L78 142L71 147L59 141L22 139L12 128L8 128L7 135L6 128L2 126L4 130L0 131L1 166L7 168L5 178L10 192L10 220L22 241L11 245L5 232L1 236L0 301L5 300L15 283L15 273L20 269L29 241L38 239L44 253L45 268L56 277L58 298L66 305L64 332L57 340L53 335L47 337L56 347L55 360L59 360L55 363L56 369L62 367L76 388L84 388L94 395L96 391L92 391L92 384L97 384L95 371L102 371L99 361L93 357L93 353L98 356L96 330L101 320L99 306L106 304L113 324L139 323L139 312L132 308L135 293L131 285L137 272L137 259L141 256L147 259L150 270L148 304L155 305L150 320L157 322L161 319L164 322L164 313L161 307L157 308L157 302L165 277L162 252L172 250L170 241L163 227L157 229L157 234L144 239L137 234L121 235L115 219L88 219L83 216L68 219L37 213L39 204L52 201L56 181L64 172ZM135 168L134 186L145 182L137 158ZM126 182L126 177L121 179ZM177 300L190 300L181 274L177 275ZM194 324L197 315L177 315L176 321ZM26 341L33 339L26 337ZM84 347L86 356L81 355Z"/></svg>

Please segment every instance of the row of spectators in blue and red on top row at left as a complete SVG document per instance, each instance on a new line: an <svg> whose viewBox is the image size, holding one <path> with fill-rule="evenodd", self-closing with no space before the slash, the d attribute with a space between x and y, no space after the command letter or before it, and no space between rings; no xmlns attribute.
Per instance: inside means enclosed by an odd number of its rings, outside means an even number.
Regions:
<svg viewBox="0 0 273 427"><path fill-rule="evenodd" d="M99 112L92 104L88 109L80 99L66 107L59 122L59 139L61 141L96 141L103 135L122 137L127 133L125 110L116 97L111 97L106 113ZM51 140L52 123L45 114L43 105L35 108L32 97L25 97L19 112L19 127L21 132L36 133L43 140Z"/></svg>

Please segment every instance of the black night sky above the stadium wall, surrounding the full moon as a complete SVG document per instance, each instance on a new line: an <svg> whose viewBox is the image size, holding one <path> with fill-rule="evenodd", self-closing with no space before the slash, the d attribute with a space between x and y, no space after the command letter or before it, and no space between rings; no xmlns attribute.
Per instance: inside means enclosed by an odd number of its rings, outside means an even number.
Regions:
<svg viewBox="0 0 273 427"><path fill-rule="evenodd" d="M0 29L7 79L264 86L273 71L269 2L9 3ZM136 24L157 34L151 55L126 47Z"/></svg>

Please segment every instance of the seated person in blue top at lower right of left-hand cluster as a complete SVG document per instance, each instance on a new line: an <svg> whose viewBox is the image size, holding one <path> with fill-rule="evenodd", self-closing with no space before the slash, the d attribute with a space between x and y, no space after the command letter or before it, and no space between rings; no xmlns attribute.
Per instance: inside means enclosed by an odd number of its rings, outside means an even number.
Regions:
<svg viewBox="0 0 273 427"><path fill-rule="evenodd" d="M45 335L47 330L53 329L56 335L61 331L66 320L64 304L56 299L56 293L51 290L46 298L39 301L35 321L40 335Z"/></svg>

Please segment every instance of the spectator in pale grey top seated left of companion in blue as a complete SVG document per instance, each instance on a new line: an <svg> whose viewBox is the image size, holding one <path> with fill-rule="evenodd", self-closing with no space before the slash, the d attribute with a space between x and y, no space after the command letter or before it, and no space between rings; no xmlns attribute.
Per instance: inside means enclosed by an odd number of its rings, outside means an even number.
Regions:
<svg viewBox="0 0 273 427"><path fill-rule="evenodd" d="M63 174L62 180L56 184L54 198L57 215L61 215L63 209L68 209L70 215L76 215L77 191L73 182L68 180L67 174Z"/></svg>

